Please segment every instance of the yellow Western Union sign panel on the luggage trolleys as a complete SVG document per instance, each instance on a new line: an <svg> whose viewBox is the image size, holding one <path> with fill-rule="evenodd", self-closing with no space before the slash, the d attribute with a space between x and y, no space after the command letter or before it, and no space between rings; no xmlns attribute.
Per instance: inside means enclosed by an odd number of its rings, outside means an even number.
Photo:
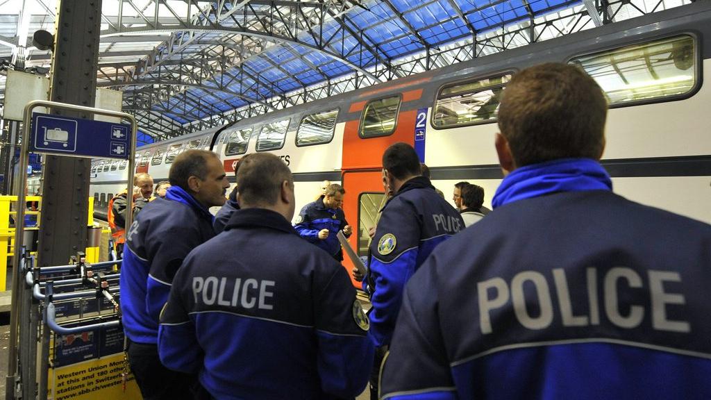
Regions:
<svg viewBox="0 0 711 400"><path fill-rule="evenodd" d="M113 354L78 364L49 369L48 397L54 400L141 400L141 392L132 374L123 389L121 374L124 355Z"/></svg>

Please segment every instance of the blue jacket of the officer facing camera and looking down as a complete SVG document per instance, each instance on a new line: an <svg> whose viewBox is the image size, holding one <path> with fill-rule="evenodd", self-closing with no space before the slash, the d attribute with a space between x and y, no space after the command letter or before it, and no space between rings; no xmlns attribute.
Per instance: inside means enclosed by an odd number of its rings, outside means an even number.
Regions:
<svg viewBox="0 0 711 400"><path fill-rule="evenodd" d="M299 216L296 217L294 228L302 238L323 248L336 259L343 260L341 243L336 235L346 225L348 225L348 221L346 221L346 214L343 214L343 210L327 209L324 206L324 196L321 196L320 199L306 204L301 209ZM323 241L319 239L321 229L328 229L328 238ZM346 235L347 238L350 236Z"/></svg>

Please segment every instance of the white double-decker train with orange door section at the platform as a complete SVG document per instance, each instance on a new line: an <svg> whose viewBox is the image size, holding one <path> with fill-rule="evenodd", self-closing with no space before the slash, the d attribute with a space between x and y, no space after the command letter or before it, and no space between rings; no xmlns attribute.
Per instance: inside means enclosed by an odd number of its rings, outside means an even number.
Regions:
<svg viewBox="0 0 711 400"><path fill-rule="evenodd" d="M297 210L321 181L343 185L357 233L351 246L365 255L384 196L381 156L392 143L412 144L447 197L466 180L485 189L490 206L503 178L493 145L498 99L518 70L545 62L579 65L606 93L602 164L618 194L711 222L711 86L702 80L711 73L711 7L703 1L149 144L137 149L136 172L167 180L178 154L210 149L234 181L240 157L276 154L294 173ZM97 215L126 187L126 169L126 161L92 161Z"/></svg>

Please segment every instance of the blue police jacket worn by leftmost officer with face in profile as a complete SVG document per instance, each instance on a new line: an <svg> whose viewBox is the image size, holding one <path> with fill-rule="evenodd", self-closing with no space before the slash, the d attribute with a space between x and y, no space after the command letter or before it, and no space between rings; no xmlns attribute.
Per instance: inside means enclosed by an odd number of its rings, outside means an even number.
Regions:
<svg viewBox="0 0 711 400"><path fill-rule="evenodd" d="M132 223L119 284L124 332L133 342L156 344L173 276L193 248L215 236L212 219L193 196L171 186Z"/></svg>

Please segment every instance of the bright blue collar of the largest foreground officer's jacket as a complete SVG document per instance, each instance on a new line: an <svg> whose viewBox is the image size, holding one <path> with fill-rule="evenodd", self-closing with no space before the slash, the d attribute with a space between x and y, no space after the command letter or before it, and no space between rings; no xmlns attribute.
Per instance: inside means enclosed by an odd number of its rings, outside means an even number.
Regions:
<svg viewBox="0 0 711 400"><path fill-rule="evenodd" d="M594 159L557 159L514 169L491 200L494 209L559 191L612 190L609 174Z"/></svg>

